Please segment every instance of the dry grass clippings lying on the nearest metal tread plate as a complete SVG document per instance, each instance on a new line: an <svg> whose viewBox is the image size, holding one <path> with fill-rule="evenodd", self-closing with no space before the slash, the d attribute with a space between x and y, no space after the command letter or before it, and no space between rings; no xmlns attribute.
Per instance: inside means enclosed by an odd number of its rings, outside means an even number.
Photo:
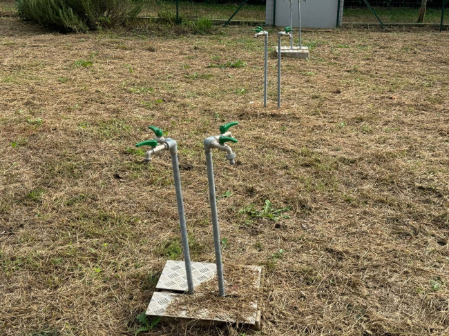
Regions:
<svg viewBox="0 0 449 336"><path fill-rule="evenodd" d="M166 309L166 314L219 319L226 322L248 323L256 318L260 299L261 272L254 266L224 265L225 297L218 295L218 282L214 277L195 288L193 295L179 295Z"/></svg>

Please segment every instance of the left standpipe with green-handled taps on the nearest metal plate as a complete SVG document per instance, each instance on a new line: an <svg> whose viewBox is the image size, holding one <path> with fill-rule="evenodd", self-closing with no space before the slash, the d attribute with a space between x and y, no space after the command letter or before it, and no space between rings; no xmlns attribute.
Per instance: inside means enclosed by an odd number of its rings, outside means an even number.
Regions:
<svg viewBox="0 0 449 336"><path fill-rule="evenodd" d="M181 229L181 239L182 239L182 252L184 254L184 264L186 268L187 275L187 287L189 289L189 294L194 293L193 289L193 278L192 278L192 268L190 261L190 251L189 251L189 237L187 235L186 218L184 213L184 201L182 199L182 189L181 189L181 177L180 168L178 162L178 144L176 141L170 138L164 138L162 135L164 132L155 126L149 126L151 130L155 133L155 139L142 141L135 144L136 147L140 146L151 146L151 150L148 150L145 155L145 162L151 162L151 157L162 150L169 150L171 155L171 166L173 168L173 179L175 181L175 191L176 191L176 204L178 205L178 216L180 218L180 229Z"/></svg>

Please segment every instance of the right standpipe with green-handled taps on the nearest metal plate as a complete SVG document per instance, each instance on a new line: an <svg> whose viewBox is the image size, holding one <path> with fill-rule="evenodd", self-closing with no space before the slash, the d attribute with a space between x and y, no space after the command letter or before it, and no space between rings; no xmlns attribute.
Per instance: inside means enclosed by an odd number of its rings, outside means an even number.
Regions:
<svg viewBox="0 0 449 336"><path fill-rule="evenodd" d="M217 200L215 192L215 177L213 176L213 160L212 160L212 148L218 148L218 150L225 151L227 153L226 159L229 164L234 164L234 153L231 147L225 144L227 141L236 143L237 139L232 137L229 128L231 126L238 125L238 122L225 123L220 126L220 135L207 137L204 139L204 153L206 154L207 165L207 181L209 183L209 202L211 204L212 215L212 229L213 229L213 246L215 248L215 259L217 266L217 279L218 279L218 293L221 297L225 296L225 278L223 277L223 264L220 245L220 226L218 225L218 213L217 213Z"/></svg>

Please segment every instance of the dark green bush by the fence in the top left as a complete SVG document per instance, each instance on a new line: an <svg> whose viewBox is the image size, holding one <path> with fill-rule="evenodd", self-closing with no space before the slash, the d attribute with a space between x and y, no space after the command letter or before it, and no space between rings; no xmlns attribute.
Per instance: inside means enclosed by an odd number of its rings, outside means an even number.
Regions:
<svg viewBox="0 0 449 336"><path fill-rule="evenodd" d="M22 19L63 32L86 32L120 26L135 17L141 5L133 0L18 0Z"/></svg>

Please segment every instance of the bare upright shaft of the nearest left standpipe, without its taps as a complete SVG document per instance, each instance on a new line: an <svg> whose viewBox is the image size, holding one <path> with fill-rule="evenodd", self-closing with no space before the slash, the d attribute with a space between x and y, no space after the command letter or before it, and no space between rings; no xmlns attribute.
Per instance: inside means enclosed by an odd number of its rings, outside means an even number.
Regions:
<svg viewBox="0 0 449 336"><path fill-rule="evenodd" d="M184 263L186 266L187 286L189 294L193 294L192 268L190 263L189 237L187 236L186 218L184 215L184 201L182 201L181 177L178 164L178 154L171 153L171 166L173 167L173 179L175 180L176 204L178 204L178 216L180 217L182 251L184 253Z"/></svg>

